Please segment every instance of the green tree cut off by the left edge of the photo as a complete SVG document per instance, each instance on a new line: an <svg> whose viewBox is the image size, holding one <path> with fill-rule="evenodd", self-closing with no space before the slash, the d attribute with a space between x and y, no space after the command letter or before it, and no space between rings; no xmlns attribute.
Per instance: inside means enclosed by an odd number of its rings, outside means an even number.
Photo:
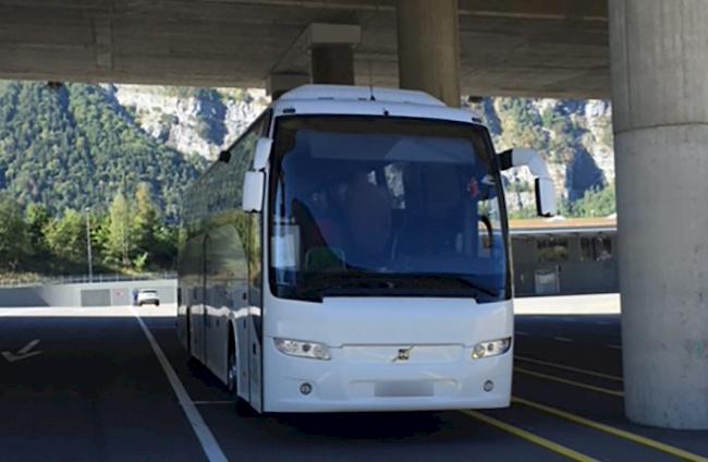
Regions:
<svg viewBox="0 0 708 462"><path fill-rule="evenodd" d="M20 205L0 195L0 267L14 271L27 254L27 234Z"/></svg>

